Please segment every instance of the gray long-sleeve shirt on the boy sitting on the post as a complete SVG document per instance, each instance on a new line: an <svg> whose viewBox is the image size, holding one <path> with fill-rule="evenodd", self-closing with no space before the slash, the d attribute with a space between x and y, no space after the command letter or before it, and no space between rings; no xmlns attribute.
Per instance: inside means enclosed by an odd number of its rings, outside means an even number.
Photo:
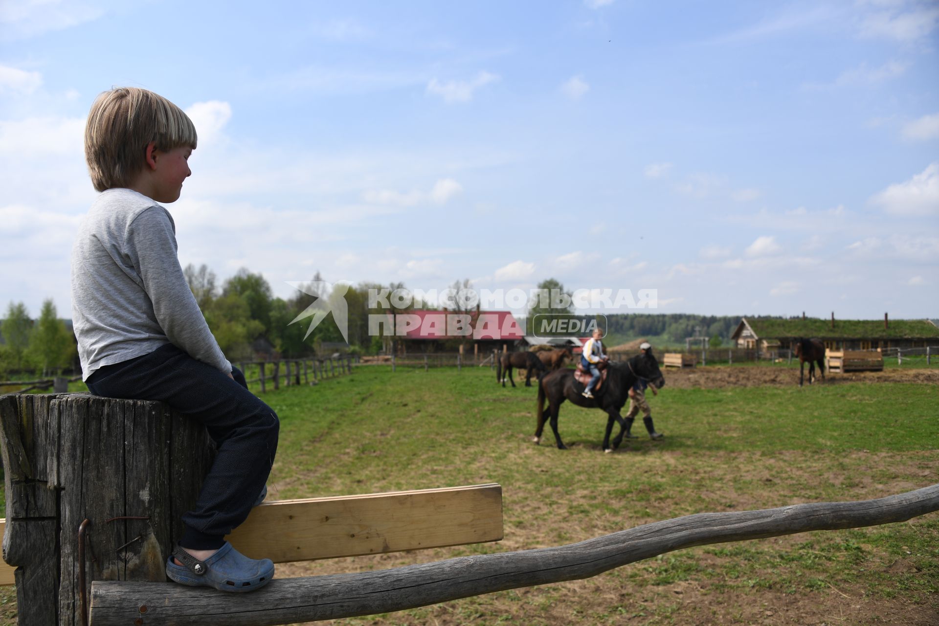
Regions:
<svg viewBox="0 0 939 626"><path fill-rule="evenodd" d="M165 344L231 372L179 267L173 218L136 191L104 191L82 221L71 313L85 380Z"/></svg>

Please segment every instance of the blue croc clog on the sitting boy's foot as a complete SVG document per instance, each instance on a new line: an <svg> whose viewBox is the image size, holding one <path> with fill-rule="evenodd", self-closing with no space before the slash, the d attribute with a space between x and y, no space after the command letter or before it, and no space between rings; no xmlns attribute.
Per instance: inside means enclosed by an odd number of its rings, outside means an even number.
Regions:
<svg viewBox="0 0 939 626"><path fill-rule="evenodd" d="M173 562L177 558L182 566ZM274 564L269 558L254 560L242 555L225 542L211 557L200 561L177 545L166 561L166 575L180 585L214 587L223 591L243 593L264 587L274 577Z"/></svg>

